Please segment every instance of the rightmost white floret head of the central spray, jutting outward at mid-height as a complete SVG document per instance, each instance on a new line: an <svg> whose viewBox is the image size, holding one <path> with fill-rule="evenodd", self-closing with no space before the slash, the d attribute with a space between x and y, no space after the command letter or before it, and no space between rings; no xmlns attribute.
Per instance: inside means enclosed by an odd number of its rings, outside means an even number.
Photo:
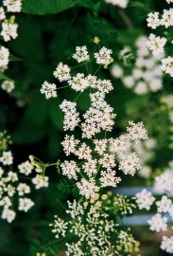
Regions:
<svg viewBox="0 0 173 256"><path fill-rule="evenodd" d="M135 143L139 143L140 139L147 139L147 130L144 128L143 122L134 123L129 121L130 126L127 128L130 139Z"/></svg>

